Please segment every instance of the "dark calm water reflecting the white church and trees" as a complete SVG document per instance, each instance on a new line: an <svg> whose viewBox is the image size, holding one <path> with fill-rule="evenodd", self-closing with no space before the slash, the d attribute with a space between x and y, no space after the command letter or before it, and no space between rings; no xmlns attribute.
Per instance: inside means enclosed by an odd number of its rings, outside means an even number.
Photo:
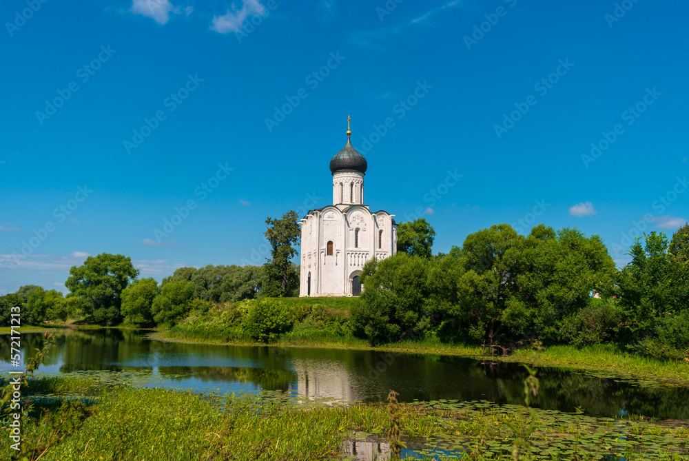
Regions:
<svg viewBox="0 0 689 461"><path fill-rule="evenodd" d="M306 398L382 401L458 399L499 404L523 401L526 371L505 362L449 356L390 356L375 351L238 347L162 342L147 331L61 331L43 373L136 372L153 385L220 391L289 391ZM23 334L23 357L43 345L43 334ZM13 369L10 338L0 336L0 371ZM383 364L383 365L381 365ZM538 407L615 418L628 413L689 419L689 388L642 388L631 382L539 369Z"/></svg>

